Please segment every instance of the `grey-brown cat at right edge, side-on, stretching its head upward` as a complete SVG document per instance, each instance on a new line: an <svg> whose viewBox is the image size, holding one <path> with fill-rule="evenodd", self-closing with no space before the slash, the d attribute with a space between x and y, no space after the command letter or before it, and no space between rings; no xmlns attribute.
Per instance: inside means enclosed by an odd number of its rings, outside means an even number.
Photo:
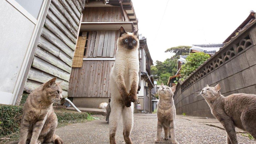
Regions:
<svg viewBox="0 0 256 144"><path fill-rule="evenodd" d="M206 85L201 95L210 106L212 114L225 128L227 143L238 143L235 126L256 138L256 95L241 93L224 97L220 89L220 84L215 87Z"/></svg>

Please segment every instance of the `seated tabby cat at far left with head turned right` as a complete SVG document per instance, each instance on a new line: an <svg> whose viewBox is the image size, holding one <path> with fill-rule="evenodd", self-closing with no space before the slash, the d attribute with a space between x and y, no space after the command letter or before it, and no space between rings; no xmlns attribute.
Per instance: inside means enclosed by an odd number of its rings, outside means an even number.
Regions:
<svg viewBox="0 0 256 144"><path fill-rule="evenodd" d="M23 107L19 144L63 143L55 134L58 120L52 108L54 102L62 99L61 82L57 83L56 79L42 84L29 94Z"/></svg>

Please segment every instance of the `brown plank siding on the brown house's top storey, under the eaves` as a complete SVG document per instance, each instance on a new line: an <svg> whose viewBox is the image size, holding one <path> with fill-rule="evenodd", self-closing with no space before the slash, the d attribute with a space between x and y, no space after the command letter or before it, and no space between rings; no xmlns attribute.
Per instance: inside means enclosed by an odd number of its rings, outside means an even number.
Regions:
<svg viewBox="0 0 256 144"><path fill-rule="evenodd" d="M129 18L125 12L126 21ZM120 7L87 7L83 11L82 22L122 22Z"/></svg>

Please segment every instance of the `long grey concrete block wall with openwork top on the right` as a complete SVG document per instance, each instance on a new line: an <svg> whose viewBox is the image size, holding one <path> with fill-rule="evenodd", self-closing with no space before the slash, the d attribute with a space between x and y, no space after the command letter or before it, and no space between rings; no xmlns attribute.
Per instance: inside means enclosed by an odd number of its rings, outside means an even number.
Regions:
<svg viewBox="0 0 256 144"><path fill-rule="evenodd" d="M181 85L177 85L174 103L177 114L213 117L200 92L209 84L221 84L221 94L256 94L256 22L227 42L214 56L193 72Z"/></svg>

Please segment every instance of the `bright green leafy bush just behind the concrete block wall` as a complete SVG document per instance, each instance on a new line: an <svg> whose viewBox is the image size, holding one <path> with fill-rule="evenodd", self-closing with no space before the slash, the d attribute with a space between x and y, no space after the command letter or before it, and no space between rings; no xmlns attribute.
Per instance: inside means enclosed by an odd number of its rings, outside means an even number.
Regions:
<svg viewBox="0 0 256 144"><path fill-rule="evenodd" d="M181 66L180 74L182 79L188 78L188 76L194 72L202 63L204 63L210 55L203 52L190 53L186 58L186 63Z"/></svg>

